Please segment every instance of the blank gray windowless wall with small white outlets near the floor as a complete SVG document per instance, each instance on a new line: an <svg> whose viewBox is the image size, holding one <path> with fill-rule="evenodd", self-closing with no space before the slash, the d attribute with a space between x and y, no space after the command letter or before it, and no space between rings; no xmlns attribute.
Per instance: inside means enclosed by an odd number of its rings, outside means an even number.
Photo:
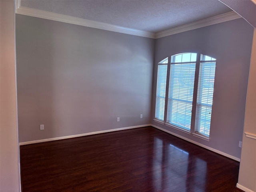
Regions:
<svg viewBox="0 0 256 192"><path fill-rule="evenodd" d="M154 42L16 14L20 142L150 124Z"/></svg>

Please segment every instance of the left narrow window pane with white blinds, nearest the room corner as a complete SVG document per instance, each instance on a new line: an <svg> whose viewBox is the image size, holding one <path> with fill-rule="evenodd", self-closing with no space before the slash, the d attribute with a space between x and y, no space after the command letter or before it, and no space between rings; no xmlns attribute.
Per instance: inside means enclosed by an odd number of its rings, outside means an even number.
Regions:
<svg viewBox="0 0 256 192"><path fill-rule="evenodd" d="M158 63L157 69L155 119L160 121L164 121L167 66L168 58L165 58Z"/></svg>

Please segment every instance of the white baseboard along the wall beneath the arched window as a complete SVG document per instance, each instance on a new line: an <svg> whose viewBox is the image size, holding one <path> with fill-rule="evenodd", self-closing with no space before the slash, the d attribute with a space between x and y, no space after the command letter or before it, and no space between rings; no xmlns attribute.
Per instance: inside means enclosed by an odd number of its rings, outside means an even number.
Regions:
<svg viewBox="0 0 256 192"><path fill-rule="evenodd" d="M201 144L201 143L195 142L195 141L190 140L190 139L188 139L188 138L186 138L186 137L180 136L180 135L178 135L178 134L176 134L176 133L174 133L174 132L171 132L171 131L168 131L168 130L166 130L166 129L160 128L160 127L158 127L158 126L156 126L156 125L151 124L151 126L154 127L154 128L157 128L157 129L159 129L159 130L162 130L162 131L164 131L164 132L167 132L167 133L169 133L169 134L171 134L171 135L174 135L174 136L176 136L176 137L178 137L178 138L184 139L184 140L186 140L186 141L188 141L188 142L190 142L190 143L196 144L196 145L198 145L198 146L200 146L200 147L206 148L206 149L208 149L208 150L210 150L210 151L216 152L216 153L218 153L218 154L221 154L221 155L226 156L226 157L228 157L228 158L230 158L230 159L233 159L233 160L236 160L236 161L240 162L240 158L234 157L234 156L232 156L232 155L226 154L226 153L221 152L221 151L219 151L219 150L216 150L216 149L214 149L214 148L211 148L211 147L208 147L208 146L203 145L203 144Z"/></svg>

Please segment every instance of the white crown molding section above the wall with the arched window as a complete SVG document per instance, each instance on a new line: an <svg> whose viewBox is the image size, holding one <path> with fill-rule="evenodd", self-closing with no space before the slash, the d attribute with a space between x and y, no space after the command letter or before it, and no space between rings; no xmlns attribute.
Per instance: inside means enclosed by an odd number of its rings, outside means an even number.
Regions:
<svg viewBox="0 0 256 192"><path fill-rule="evenodd" d="M231 11L231 12L213 16L213 17L210 17L207 19L202 19L202 20L199 20L196 22L192 22L189 24L185 24L182 26L178 26L178 27L174 27L174 28L171 28L168 30L157 32L156 38L166 37L169 35L185 32L185 31L189 31L189 30L193 30L193 29L198 29L201 27L206 27L206 26L210 26L210 25L214 25L214 24L218 24L218 23L222 23L222 22L226 22L226 21L230 21L230 20L234 20L234 19L238 19L238 18L241 18L241 16L238 15L236 12Z"/></svg>

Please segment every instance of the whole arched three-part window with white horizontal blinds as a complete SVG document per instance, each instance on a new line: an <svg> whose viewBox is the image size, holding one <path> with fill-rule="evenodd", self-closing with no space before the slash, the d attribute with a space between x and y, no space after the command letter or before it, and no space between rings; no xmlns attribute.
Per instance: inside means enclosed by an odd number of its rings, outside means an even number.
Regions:
<svg viewBox="0 0 256 192"><path fill-rule="evenodd" d="M159 62L155 120L191 132L194 117L194 134L209 138L215 66L215 58L202 54L199 57L196 53L176 54L171 56L169 63L168 58ZM170 74L167 74L168 67ZM196 69L199 69L197 73ZM166 82L169 82L168 88ZM192 111L193 103L196 103L195 111Z"/></svg>

